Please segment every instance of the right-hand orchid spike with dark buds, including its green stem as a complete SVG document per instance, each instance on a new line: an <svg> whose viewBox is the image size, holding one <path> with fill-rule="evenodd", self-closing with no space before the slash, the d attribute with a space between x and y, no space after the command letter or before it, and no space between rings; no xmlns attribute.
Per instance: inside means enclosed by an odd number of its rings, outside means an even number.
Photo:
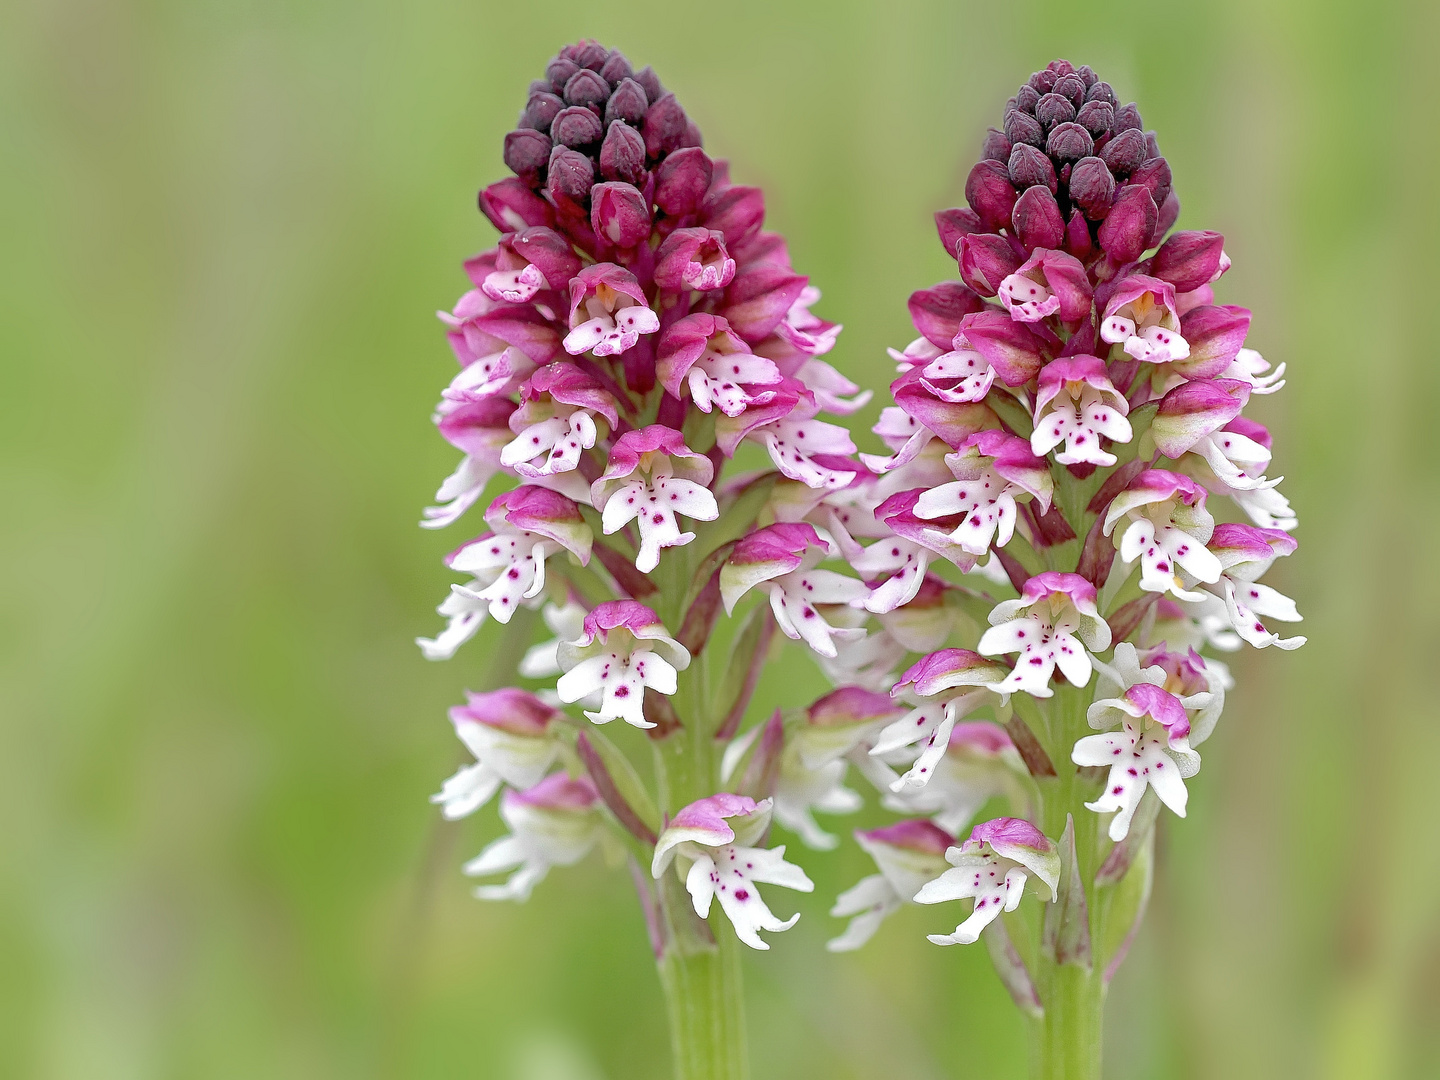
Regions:
<svg viewBox="0 0 1440 1080"><path fill-rule="evenodd" d="M930 940L984 940L1032 1020L1034 1074L1083 1080L1158 818L1185 816L1231 687L1215 652L1303 642L1266 624L1299 619L1259 582L1296 518L1241 415L1282 372L1244 347L1250 312L1215 302L1221 236L1169 232L1155 134L1089 68L1021 86L965 193L936 215L960 279L910 298L920 337L894 353L891 455L808 511L848 533L870 611L939 631L901 642L927 651L891 687L910 711L868 746L912 816L857 834L878 873L837 901L831 948L963 900ZM1005 816L956 842L992 799Z"/></svg>

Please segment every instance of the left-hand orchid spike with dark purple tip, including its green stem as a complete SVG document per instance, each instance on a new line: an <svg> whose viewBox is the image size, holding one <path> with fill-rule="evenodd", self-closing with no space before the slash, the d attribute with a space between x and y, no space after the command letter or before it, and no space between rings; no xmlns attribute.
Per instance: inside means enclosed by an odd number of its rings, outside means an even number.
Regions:
<svg viewBox="0 0 1440 1080"><path fill-rule="evenodd" d="M524 900L596 847L628 861L677 1076L742 1077L737 949L795 922L760 887L812 888L769 841L772 818L804 812L775 791L780 721L756 742L746 717L775 618L828 639L811 608L750 602L723 621L724 567L770 550L752 533L776 500L863 471L845 429L815 419L863 399L819 359L840 327L809 312L819 294L762 229L760 192L706 156L651 69L595 42L563 49L504 158L516 176L480 194L500 243L441 312L459 372L435 423L462 458L423 521L449 526L488 494L487 530L448 556L465 577L419 645L446 660L487 619L530 635L536 612L549 636L518 661L524 687L452 710L475 760L435 801L458 818L503 792L508 834L467 873L510 877L481 899ZM844 582L825 602L860 606L868 588Z"/></svg>

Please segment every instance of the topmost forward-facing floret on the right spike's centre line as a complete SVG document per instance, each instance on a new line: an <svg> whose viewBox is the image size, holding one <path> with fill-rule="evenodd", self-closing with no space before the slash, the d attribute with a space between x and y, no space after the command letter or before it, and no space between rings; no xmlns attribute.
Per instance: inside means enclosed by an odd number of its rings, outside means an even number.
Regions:
<svg viewBox="0 0 1440 1080"><path fill-rule="evenodd" d="M1063 442L1066 448L1056 455L1061 465L1113 465L1116 456L1100 439L1129 442L1129 410L1099 357L1061 357L1040 372L1030 448L1044 456Z"/></svg>

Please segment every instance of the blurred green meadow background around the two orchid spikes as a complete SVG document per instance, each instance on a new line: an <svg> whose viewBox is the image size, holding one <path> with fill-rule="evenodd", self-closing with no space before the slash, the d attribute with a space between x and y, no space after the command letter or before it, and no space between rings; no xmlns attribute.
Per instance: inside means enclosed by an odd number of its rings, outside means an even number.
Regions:
<svg viewBox="0 0 1440 1080"><path fill-rule="evenodd" d="M415 527L455 456L432 312L579 36L766 187L847 324L832 359L877 387L1014 88L1064 55L1140 104L1181 225L1228 238L1221 298L1290 366L1253 412L1310 644L1237 661L1109 1071L1440 1074L1437 19L1392 0L6 4L0 1074L667 1074L622 873L469 899L494 811L442 827L426 796L487 645L410 644L464 528ZM806 865L799 926L747 963L757 1077L1022 1074L984 952L923 939L948 912L829 956L864 867Z"/></svg>

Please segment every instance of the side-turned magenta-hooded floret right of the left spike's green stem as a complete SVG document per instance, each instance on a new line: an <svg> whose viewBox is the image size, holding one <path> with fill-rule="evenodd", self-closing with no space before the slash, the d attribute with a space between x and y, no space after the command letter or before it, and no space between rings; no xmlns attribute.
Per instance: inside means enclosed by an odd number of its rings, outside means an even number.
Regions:
<svg viewBox="0 0 1440 1080"><path fill-rule="evenodd" d="M861 628L837 626L822 606L864 606L870 589L855 577L816 569L829 544L805 523L780 523L743 537L720 569L720 596L727 612L756 586L770 595L780 632L804 641L821 657L835 655L835 642L860 639Z"/></svg>

